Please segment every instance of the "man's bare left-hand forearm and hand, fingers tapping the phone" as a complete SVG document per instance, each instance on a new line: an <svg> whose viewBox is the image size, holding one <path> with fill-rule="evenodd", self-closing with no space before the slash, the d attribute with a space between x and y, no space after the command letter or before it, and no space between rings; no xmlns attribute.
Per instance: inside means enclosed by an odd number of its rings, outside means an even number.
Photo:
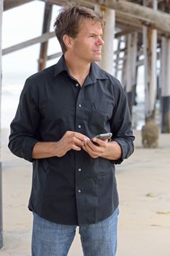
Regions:
<svg viewBox="0 0 170 256"><path fill-rule="evenodd" d="M38 142L32 152L34 159L63 157L67 151L80 151L89 138L79 132L67 131L57 142Z"/></svg>

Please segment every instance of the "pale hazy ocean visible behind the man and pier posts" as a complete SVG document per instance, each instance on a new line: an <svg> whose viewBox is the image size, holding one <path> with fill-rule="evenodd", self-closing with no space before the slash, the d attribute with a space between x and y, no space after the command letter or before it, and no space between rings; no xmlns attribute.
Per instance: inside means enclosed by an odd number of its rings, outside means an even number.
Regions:
<svg viewBox="0 0 170 256"><path fill-rule="evenodd" d="M8 73L2 76L1 88L1 128L9 129L12 119L15 117L18 108L20 93L23 89L26 78L32 73ZM144 85L143 79L138 80L136 100L138 104L133 107L132 124L134 129L142 129L144 125Z"/></svg>

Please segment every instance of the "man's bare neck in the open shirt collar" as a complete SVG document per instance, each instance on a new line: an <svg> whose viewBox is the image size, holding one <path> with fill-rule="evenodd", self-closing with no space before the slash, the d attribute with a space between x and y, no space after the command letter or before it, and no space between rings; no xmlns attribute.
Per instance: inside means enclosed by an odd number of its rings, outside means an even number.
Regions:
<svg viewBox="0 0 170 256"><path fill-rule="evenodd" d="M72 75L72 77L80 83L80 86L82 86L85 78L90 72L90 63L85 63L85 61L80 61L76 58L70 58L67 54L64 55L64 59L70 75Z"/></svg>

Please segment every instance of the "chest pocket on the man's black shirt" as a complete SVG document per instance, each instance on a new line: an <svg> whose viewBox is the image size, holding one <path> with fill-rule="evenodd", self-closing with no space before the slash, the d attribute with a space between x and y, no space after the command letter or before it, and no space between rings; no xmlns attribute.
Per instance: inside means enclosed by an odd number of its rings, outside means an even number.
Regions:
<svg viewBox="0 0 170 256"><path fill-rule="evenodd" d="M110 131L109 119L112 117L112 105L107 102L93 103L90 126L94 135Z"/></svg>

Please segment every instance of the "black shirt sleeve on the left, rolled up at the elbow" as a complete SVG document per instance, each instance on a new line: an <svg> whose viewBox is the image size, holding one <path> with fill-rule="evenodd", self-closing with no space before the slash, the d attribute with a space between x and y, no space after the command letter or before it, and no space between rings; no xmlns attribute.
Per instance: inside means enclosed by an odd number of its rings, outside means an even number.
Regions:
<svg viewBox="0 0 170 256"><path fill-rule="evenodd" d="M9 149L18 157L33 162L32 150L39 141L37 129L40 113L38 108L38 92L36 85L26 80L20 94L18 110L10 125Z"/></svg>

